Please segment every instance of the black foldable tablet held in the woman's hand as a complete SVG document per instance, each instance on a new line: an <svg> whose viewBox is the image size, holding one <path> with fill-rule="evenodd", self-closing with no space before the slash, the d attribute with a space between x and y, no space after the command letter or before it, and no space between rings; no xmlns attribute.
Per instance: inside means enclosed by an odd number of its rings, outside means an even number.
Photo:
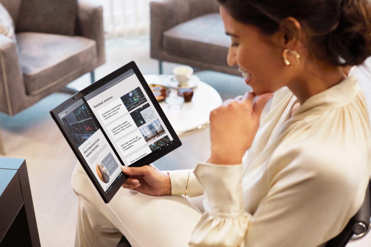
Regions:
<svg viewBox="0 0 371 247"><path fill-rule="evenodd" d="M105 203L127 178L121 165L147 165L181 146L133 61L50 114Z"/></svg>

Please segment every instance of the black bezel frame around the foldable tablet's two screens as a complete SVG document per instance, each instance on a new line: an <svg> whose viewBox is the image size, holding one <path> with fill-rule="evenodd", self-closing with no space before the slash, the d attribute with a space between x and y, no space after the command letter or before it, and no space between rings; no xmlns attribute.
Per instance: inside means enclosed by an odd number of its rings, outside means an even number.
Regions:
<svg viewBox="0 0 371 247"><path fill-rule="evenodd" d="M115 78L121 76L122 74L124 74L125 72L127 72L131 69L134 71L134 75L132 75L132 76L137 76L137 78L139 80L139 83L141 83L143 89L147 93L147 96L148 96L149 100L151 100L151 102L152 102L153 106L155 107L158 115L160 116L163 123L167 127L168 133L171 135L171 137L173 137L174 143L167 146L166 148L158 151L157 153L152 154L150 157L147 157L147 158L143 157L143 158L139 159L138 161L135 161L133 164L130 164L129 166L130 167L144 166L144 165L148 165L148 164L154 162L155 160L158 160L162 156L165 156L166 154L170 153L174 149L180 147L182 143L181 143L179 137L177 136L177 134L175 133L173 127L171 126L169 120L167 119L164 111L162 111L160 104L158 104L154 94L152 93L150 87L148 86L148 83L145 81L142 73L139 71L139 69L137 67L137 64L135 64L134 61L131 61L130 63L128 63L128 64L122 66L121 68L115 70L114 72L108 74L107 76L105 76L102 79L96 81L95 83L91 84L90 86L86 87L85 89L81 90L80 92L74 94L68 100L64 101L62 104L60 104L59 106L55 107L53 110L50 111L50 114L52 115L54 121L58 125L59 129L61 130L61 132L62 132L63 136L65 137L66 141L68 142L69 146L71 147L71 149L75 153L76 157L78 158L82 167L84 168L86 174L88 174L90 180L94 184L95 188L98 190L99 194L101 195L101 197L102 197L102 199L104 200L105 203L108 203L109 201L111 201L111 199L114 197L114 195L117 193L117 191L119 190L119 188L122 186L122 184L125 182L126 179L122 180L122 183L120 183L119 181L118 181L118 183L115 183L112 186L111 190L107 194L105 194L105 191L100 186L100 184L99 184L98 180L96 179L96 177L94 176L94 174L91 174L90 168L88 169L88 167L89 167L88 163L86 163L85 159L83 158L82 154L79 152L78 148L76 148L73 145L73 140L71 139L72 137L70 137L68 134L66 134L66 130L65 130L64 125L62 123L62 120L59 119L58 114L61 113L63 110L67 109L69 106L71 106L76 101L78 101L80 99L83 99L83 97L85 97L89 93L95 91L99 87L104 86L105 84L111 82ZM91 108L86 103L86 100L83 99L83 101L86 104L86 106L89 108L89 110L91 111ZM96 116L94 116L92 114L92 117L96 121L96 123L98 124L99 128L102 130L102 133L104 134L104 136L108 140L108 143L110 144L110 146L114 150L118 160L121 162L121 165L123 165L124 164L123 160L117 154L117 151L113 146L114 143L111 143L109 138L107 138L107 133L103 130L101 124L96 119ZM124 177L127 178L127 176L125 174L124 174Z"/></svg>

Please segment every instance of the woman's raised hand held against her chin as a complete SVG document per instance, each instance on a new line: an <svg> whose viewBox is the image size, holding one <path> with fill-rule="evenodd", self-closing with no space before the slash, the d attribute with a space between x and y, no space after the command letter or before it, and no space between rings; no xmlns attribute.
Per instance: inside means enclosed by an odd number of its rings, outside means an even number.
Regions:
<svg viewBox="0 0 371 247"><path fill-rule="evenodd" d="M213 164L240 164L259 128L260 114L272 93L255 94L229 99L210 113L211 157Z"/></svg>

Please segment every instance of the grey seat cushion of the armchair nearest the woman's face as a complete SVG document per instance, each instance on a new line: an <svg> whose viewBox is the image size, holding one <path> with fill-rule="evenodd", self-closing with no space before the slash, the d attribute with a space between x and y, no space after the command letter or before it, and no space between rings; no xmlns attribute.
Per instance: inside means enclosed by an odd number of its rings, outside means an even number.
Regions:
<svg viewBox="0 0 371 247"><path fill-rule="evenodd" d="M174 56L227 65L230 38L219 13L206 14L164 32L162 48Z"/></svg>

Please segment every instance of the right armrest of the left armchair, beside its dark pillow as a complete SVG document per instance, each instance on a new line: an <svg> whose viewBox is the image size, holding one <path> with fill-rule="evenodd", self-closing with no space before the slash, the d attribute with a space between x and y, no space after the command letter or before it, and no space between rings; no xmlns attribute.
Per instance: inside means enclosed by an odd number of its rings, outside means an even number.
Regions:
<svg viewBox="0 0 371 247"><path fill-rule="evenodd" d="M96 41L97 66L106 61L103 30L103 7L88 0L78 1L75 34Z"/></svg>

